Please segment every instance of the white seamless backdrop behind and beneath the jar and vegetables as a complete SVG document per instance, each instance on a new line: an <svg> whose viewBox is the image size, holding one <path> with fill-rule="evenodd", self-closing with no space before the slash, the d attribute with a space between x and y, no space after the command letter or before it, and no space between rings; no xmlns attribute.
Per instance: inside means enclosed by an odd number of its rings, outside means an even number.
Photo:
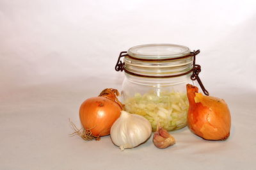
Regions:
<svg viewBox="0 0 256 170"><path fill-rule="evenodd" d="M0 169L252 169L255 30L253 0L0 0ZM68 137L67 119L79 124L83 100L121 88L124 73L114 70L119 52L145 43L201 50L196 62L205 87L232 111L227 142L202 141L184 128L175 132L181 142L173 150L148 141L121 153L109 137L88 143Z"/></svg>

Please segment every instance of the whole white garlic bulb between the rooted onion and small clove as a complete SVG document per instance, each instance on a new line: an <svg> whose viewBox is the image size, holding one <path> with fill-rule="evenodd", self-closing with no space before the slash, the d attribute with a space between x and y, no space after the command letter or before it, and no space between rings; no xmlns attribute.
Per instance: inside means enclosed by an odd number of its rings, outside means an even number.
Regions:
<svg viewBox="0 0 256 170"><path fill-rule="evenodd" d="M110 130L113 143L123 151L147 141L152 133L150 122L138 114L122 111Z"/></svg>

